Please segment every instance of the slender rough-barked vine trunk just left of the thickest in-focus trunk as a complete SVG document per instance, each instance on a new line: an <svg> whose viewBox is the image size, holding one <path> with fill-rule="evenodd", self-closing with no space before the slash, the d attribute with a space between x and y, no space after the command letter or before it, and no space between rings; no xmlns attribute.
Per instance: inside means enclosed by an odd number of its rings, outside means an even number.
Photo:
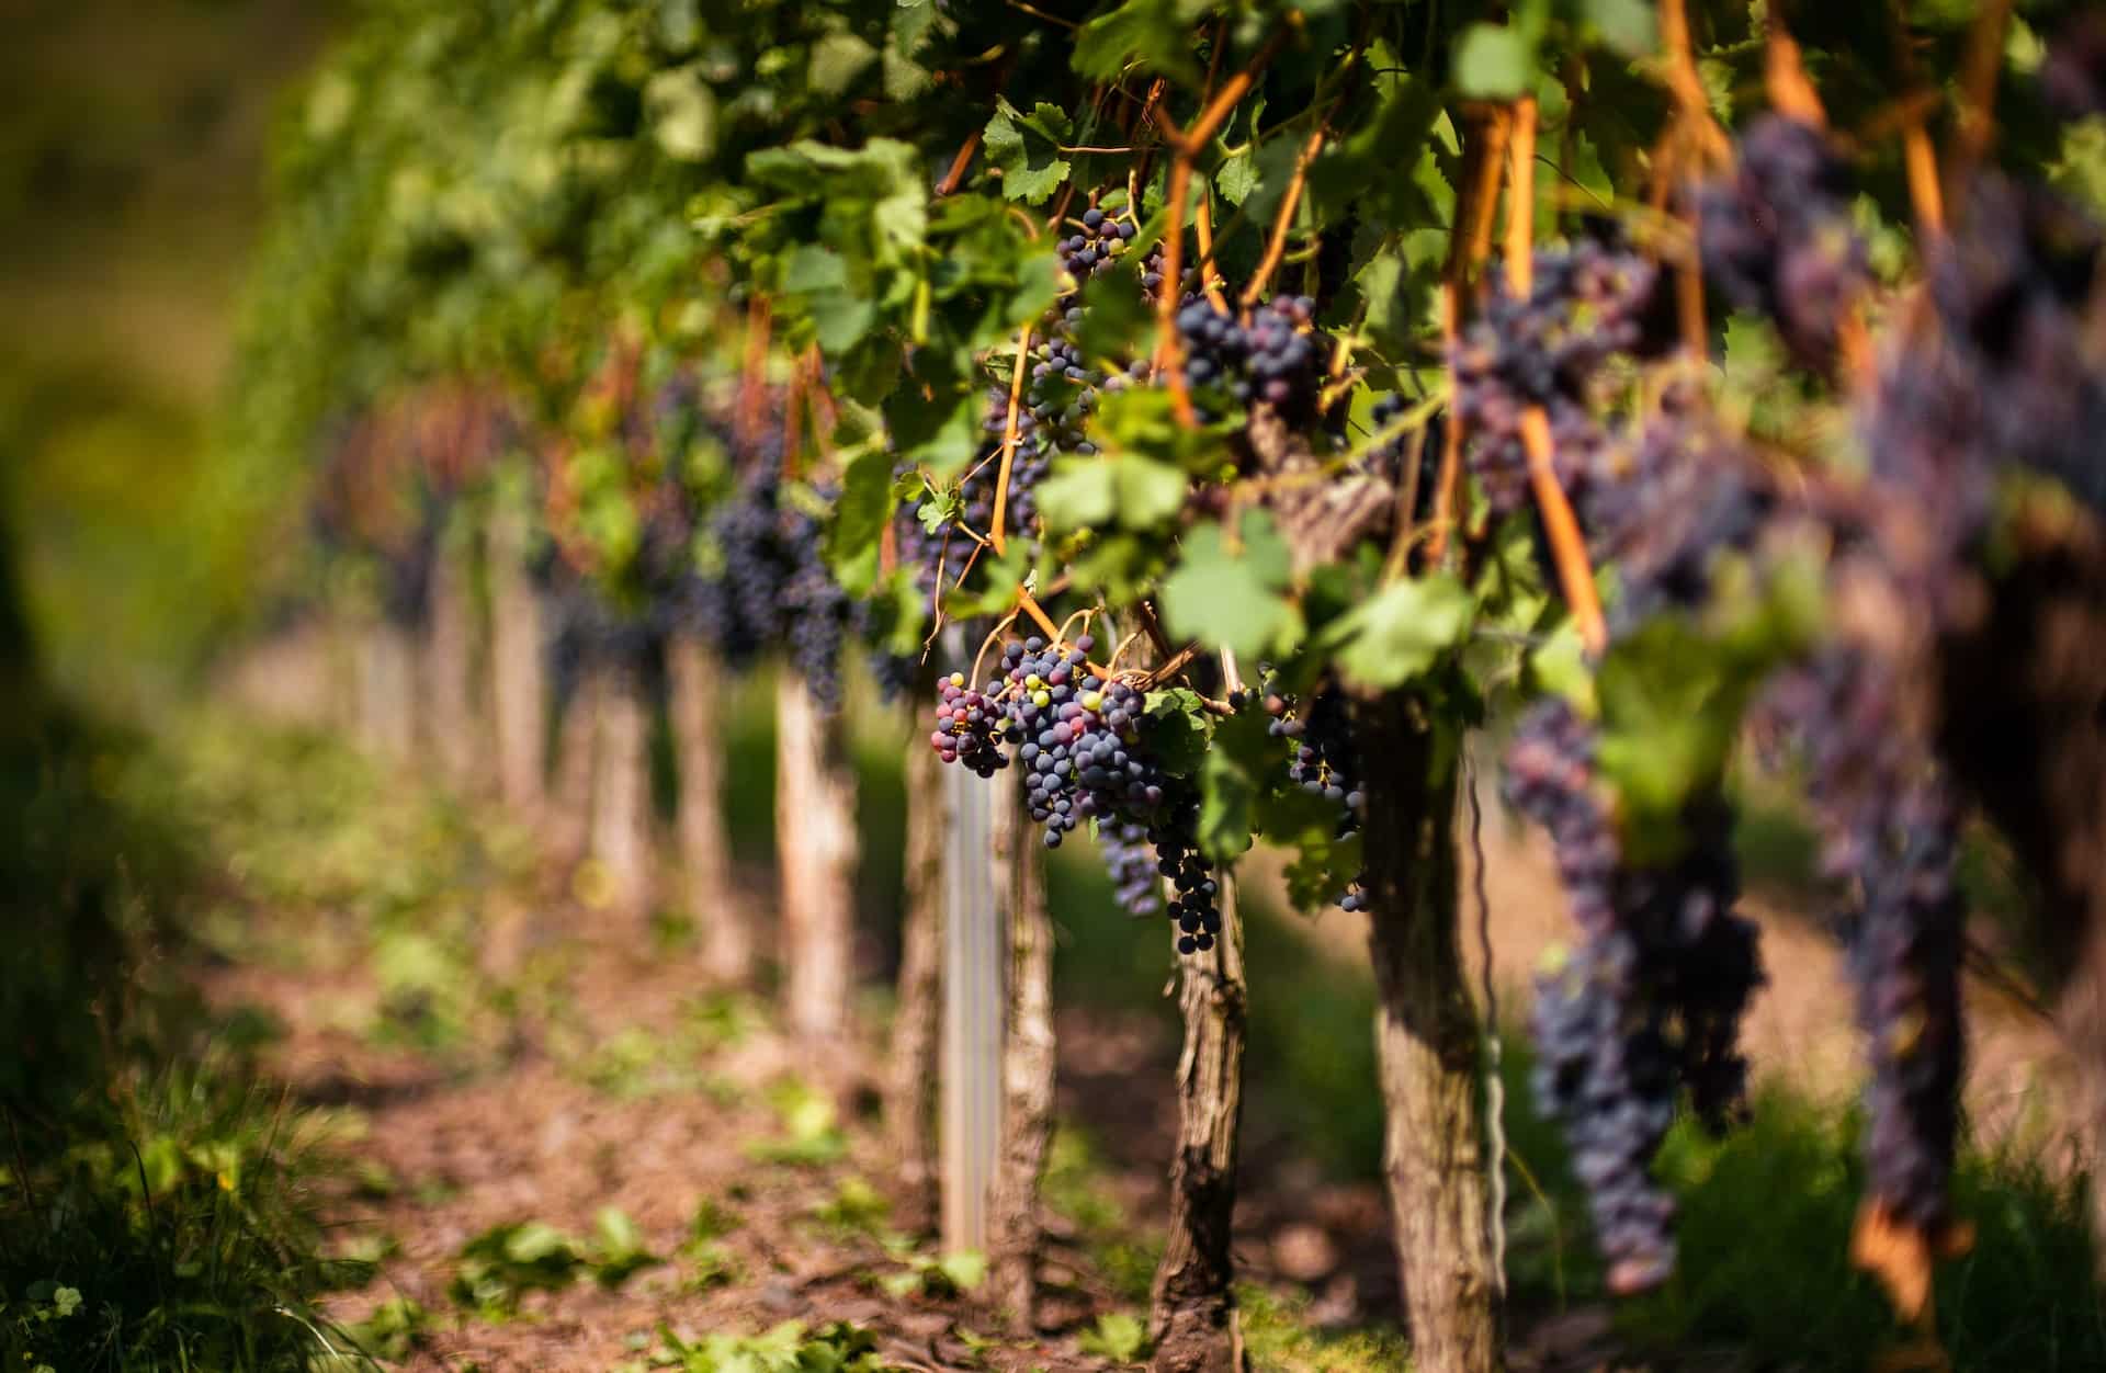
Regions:
<svg viewBox="0 0 2106 1373"><path fill-rule="evenodd" d="M1173 933L1175 939L1175 933ZM1175 956L1175 954L1173 954ZM1249 992L1236 880L1221 870L1221 933L1179 958L1177 1156L1171 1223L1156 1268L1150 1341L1156 1373L1234 1373L1243 1365L1230 1236L1236 1219L1236 1131Z"/></svg>

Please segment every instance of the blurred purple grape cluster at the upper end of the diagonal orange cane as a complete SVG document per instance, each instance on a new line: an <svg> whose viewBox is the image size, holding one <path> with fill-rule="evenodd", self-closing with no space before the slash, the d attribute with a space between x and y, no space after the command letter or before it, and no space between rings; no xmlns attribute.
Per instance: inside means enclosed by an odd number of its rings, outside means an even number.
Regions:
<svg viewBox="0 0 2106 1373"><path fill-rule="evenodd" d="M1529 503L1521 417L1542 406L1554 470L1571 491L1603 451L1594 379L1617 354L1672 343L1670 293L1643 255L1601 238L1537 248L1527 297L1495 282L1485 312L1455 341L1455 415L1470 436L1470 472L1495 518Z"/></svg>

